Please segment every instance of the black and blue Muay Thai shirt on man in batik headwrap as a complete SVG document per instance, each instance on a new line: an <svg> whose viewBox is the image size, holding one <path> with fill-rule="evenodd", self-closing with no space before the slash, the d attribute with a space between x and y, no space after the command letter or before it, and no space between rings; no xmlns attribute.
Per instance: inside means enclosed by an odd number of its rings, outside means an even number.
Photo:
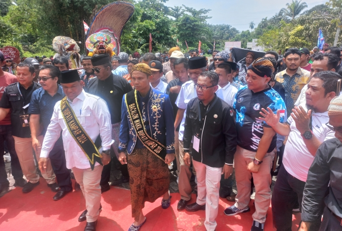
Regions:
<svg viewBox="0 0 342 231"><path fill-rule="evenodd" d="M259 92L253 92L247 86L241 87L236 95L233 108L236 111L237 145L248 151L257 152L264 134L264 127L271 128L260 120L262 108L270 107L274 113L280 109L280 123L284 123L286 107L282 97L269 87ZM276 148L277 136L272 138L267 152Z"/></svg>

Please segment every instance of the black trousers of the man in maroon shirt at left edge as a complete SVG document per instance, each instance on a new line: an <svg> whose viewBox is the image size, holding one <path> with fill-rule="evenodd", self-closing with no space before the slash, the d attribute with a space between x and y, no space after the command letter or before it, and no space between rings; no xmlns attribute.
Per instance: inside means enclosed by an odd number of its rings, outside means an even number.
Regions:
<svg viewBox="0 0 342 231"><path fill-rule="evenodd" d="M7 173L5 170L4 155L4 142L7 143L7 148L11 156L11 170L13 178L23 178L23 172L20 167L20 162L16 149L14 148L14 139L12 136L12 125L0 125L0 184L8 184Z"/></svg>

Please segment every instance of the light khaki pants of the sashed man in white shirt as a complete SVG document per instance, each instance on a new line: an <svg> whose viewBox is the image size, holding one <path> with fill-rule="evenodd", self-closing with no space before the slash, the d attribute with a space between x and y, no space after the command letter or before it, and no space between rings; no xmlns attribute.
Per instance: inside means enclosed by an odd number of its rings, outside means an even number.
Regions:
<svg viewBox="0 0 342 231"><path fill-rule="evenodd" d="M101 173L103 166L98 165L91 168L79 169L72 168L73 175L77 183L81 186L81 190L85 199L85 208L87 212L87 222L94 222L100 215L101 203Z"/></svg>

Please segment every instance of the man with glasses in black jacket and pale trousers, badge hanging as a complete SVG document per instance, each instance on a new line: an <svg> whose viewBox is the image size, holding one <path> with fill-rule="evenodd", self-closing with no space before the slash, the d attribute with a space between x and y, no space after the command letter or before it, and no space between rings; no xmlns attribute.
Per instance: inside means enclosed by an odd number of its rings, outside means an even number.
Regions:
<svg viewBox="0 0 342 231"><path fill-rule="evenodd" d="M216 96L219 77L205 71L196 86L198 97L189 101L184 129L184 162L190 166L190 145L193 141L193 165L197 173L198 197L188 204L188 211L206 210L204 225L216 228L221 174L227 179L233 172L236 151L236 130L233 109Z"/></svg>

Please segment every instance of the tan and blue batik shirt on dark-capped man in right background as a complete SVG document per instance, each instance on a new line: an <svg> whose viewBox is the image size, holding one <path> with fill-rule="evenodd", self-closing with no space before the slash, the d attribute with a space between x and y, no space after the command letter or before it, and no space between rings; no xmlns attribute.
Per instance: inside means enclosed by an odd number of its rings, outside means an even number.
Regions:
<svg viewBox="0 0 342 231"><path fill-rule="evenodd" d="M285 89L284 100L286 109L291 111L300 95L300 91L310 80L310 72L298 67L297 72L290 76L287 74L287 69L285 69L276 75L276 80L280 82Z"/></svg>

